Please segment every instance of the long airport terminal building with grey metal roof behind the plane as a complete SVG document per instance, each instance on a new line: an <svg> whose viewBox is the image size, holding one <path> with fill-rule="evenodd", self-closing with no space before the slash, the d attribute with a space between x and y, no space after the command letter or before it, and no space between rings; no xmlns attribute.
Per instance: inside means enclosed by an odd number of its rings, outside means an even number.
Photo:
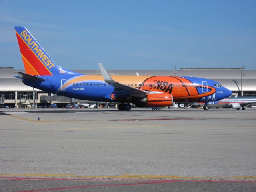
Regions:
<svg viewBox="0 0 256 192"><path fill-rule="evenodd" d="M0 68L0 104L30 107L31 104L49 105L58 103L65 105L78 100L56 96L41 90L26 86L15 76L16 71L25 72L10 67ZM74 70L82 74L100 74L99 70ZM150 76L193 76L215 80L230 89L233 95L256 96L256 70L244 68L180 68L180 70L108 70L115 75L150 75Z"/></svg>

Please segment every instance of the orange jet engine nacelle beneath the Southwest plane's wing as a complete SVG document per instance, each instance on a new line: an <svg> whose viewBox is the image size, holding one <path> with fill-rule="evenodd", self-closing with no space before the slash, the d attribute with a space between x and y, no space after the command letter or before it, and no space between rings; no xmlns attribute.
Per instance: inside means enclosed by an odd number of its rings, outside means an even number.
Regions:
<svg viewBox="0 0 256 192"><path fill-rule="evenodd" d="M172 105L172 94L168 93L153 93L146 97L147 107L166 107Z"/></svg>

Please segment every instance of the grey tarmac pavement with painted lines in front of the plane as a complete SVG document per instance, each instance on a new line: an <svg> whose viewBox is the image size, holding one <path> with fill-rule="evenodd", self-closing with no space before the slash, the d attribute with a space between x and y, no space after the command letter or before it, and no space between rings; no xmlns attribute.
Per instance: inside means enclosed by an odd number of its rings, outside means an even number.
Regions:
<svg viewBox="0 0 256 192"><path fill-rule="evenodd" d="M1 192L255 189L254 108L0 110Z"/></svg>

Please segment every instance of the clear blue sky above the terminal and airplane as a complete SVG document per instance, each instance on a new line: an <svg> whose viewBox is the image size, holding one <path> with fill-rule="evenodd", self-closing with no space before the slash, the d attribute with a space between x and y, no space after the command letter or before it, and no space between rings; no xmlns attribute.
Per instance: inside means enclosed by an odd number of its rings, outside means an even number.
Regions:
<svg viewBox="0 0 256 192"><path fill-rule="evenodd" d="M21 69L14 26L69 69L256 70L255 0L0 0L0 67Z"/></svg>

